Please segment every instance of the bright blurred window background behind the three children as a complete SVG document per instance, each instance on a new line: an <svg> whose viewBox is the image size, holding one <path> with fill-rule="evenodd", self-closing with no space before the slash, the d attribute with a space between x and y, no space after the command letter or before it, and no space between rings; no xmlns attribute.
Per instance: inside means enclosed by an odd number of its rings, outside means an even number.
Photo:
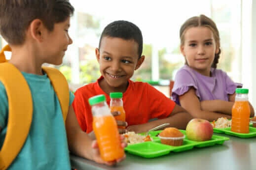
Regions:
<svg viewBox="0 0 256 170"><path fill-rule="evenodd" d="M254 54L256 54L256 0L70 0L75 8L69 46L62 65L55 66L67 78L70 87L95 82L100 77L95 57L102 30L115 20L136 24L143 33L146 56L135 71L133 81L154 81L156 88L170 96L169 82L184 65L180 52L179 30L186 19L204 14L212 18L220 32L221 55L218 68L234 82L253 90ZM256 11L256 10L255 10ZM0 47L6 42L0 37Z"/></svg>

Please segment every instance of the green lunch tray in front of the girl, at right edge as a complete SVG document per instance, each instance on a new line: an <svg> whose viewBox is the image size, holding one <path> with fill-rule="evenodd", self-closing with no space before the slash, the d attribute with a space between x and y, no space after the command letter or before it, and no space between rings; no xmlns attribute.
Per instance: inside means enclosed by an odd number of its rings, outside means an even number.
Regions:
<svg viewBox="0 0 256 170"><path fill-rule="evenodd" d="M214 132L215 133L224 133L224 134L227 134L227 135L240 137L240 138L256 137L256 128L252 127L252 125L249 126L249 133L248 134L232 132L231 127L228 127L228 128L214 128Z"/></svg>

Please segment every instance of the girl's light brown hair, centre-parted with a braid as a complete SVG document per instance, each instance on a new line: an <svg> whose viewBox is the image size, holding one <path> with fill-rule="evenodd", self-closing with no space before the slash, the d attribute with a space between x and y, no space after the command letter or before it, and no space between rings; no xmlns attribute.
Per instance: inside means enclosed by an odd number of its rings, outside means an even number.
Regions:
<svg viewBox="0 0 256 170"><path fill-rule="evenodd" d="M219 30L216 26L216 24L214 23L214 21L210 18L208 18L205 15L200 15L199 17L191 17L188 20L185 21L185 23L182 25L181 29L180 29L180 39L181 39L181 45L184 45L184 34L186 32L187 29L192 28L192 27L207 27L210 28L213 31L214 34L214 39L217 43L217 48L220 47L220 38L219 38ZM219 62L219 55L220 55L221 51L219 49L219 53L215 54L214 57L214 62L212 64L213 68L217 68L217 63Z"/></svg>

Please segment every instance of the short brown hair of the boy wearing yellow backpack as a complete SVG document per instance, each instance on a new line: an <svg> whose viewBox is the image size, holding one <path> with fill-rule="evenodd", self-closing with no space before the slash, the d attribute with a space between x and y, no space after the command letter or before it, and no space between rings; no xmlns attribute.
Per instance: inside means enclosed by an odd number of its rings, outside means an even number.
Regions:
<svg viewBox="0 0 256 170"><path fill-rule="evenodd" d="M52 31L73 15L69 0L0 0L0 34L11 45L21 45L31 22L40 19Z"/></svg>

